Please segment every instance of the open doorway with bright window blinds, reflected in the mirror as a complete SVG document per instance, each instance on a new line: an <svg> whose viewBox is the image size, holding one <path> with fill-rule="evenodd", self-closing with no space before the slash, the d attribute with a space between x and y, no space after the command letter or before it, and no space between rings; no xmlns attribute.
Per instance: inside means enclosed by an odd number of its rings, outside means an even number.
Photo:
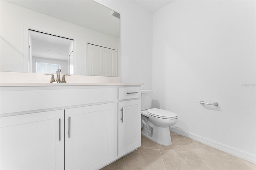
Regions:
<svg viewBox="0 0 256 170"><path fill-rule="evenodd" d="M60 68L62 74L69 74L69 65L72 65L69 57L73 52L73 40L33 30L28 31L28 36L30 72L55 74Z"/></svg>

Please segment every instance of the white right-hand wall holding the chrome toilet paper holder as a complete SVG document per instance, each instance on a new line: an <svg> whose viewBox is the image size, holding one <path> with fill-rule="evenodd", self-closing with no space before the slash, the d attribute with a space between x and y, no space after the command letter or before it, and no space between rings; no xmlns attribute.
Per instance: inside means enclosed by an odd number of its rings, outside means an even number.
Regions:
<svg viewBox="0 0 256 170"><path fill-rule="evenodd" d="M154 106L177 113L174 127L181 132L254 162L255 6L172 1L153 14Z"/></svg>

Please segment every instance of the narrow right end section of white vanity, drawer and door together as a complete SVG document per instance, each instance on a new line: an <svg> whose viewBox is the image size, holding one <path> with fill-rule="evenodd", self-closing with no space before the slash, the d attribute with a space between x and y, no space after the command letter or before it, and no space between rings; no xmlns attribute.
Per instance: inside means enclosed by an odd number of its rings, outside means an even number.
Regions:
<svg viewBox="0 0 256 170"><path fill-rule="evenodd" d="M118 156L140 147L140 87L118 88Z"/></svg>

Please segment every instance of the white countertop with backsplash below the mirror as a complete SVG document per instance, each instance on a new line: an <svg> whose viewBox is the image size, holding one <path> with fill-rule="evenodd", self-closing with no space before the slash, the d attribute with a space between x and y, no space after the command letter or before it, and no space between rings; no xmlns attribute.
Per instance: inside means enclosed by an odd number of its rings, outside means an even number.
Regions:
<svg viewBox="0 0 256 170"><path fill-rule="evenodd" d="M0 71L0 87L144 85L144 83L120 83L120 77L71 75L66 77L67 83L50 83L50 78L42 73Z"/></svg>

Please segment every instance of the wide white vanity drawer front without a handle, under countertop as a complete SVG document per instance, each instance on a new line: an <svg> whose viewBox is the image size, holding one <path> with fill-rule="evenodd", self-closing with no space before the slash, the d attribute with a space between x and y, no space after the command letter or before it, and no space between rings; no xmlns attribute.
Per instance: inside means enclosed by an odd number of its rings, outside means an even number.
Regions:
<svg viewBox="0 0 256 170"><path fill-rule="evenodd" d="M116 88L88 87L0 91L0 114L112 102L117 96L116 93Z"/></svg>

